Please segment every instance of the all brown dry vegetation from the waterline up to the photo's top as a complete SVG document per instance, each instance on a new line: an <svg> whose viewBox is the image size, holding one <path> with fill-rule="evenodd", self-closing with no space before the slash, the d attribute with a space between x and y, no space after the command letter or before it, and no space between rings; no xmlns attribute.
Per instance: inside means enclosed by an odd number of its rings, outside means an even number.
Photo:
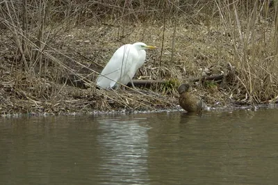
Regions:
<svg viewBox="0 0 278 185"><path fill-rule="evenodd" d="M0 112L173 108L179 83L198 77L210 106L277 102L277 13L270 0L2 1ZM137 41L160 49L136 77L166 82L153 93L95 88L113 52ZM229 75L202 80L215 74Z"/></svg>

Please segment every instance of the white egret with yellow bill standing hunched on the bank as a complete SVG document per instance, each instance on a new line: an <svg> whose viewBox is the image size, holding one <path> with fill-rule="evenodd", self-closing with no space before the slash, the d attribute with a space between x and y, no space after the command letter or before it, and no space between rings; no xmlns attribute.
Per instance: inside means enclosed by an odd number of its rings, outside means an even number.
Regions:
<svg viewBox="0 0 278 185"><path fill-rule="evenodd" d="M136 71L145 63L145 49L156 49L142 42L136 42L133 45L123 45L111 57L110 61L104 67L97 78L99 88L111 89L117 88L122 83L126 85L131 81Z"/></svg>

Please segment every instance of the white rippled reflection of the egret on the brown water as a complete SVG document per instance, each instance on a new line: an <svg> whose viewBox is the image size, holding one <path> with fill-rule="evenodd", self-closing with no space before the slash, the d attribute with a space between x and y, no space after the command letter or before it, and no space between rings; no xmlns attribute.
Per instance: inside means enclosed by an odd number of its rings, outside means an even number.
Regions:
<svg viewBox="0 0 278 185"><path fill-rule="evenodd" d="M101 178L106 182L147 184L148 136L144 120L99 120Z"/></svg>

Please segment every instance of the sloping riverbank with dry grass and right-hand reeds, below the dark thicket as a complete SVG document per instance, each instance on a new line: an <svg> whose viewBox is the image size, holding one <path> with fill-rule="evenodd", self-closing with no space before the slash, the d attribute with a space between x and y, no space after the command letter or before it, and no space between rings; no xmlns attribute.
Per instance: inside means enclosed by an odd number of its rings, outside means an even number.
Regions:
<svg viewBox="0 0 278 185"><path fill-rule="evenodd" d="M224 22L205 14L194 22L183 16L136 22L106 18L78 25L51 22L43 31L30 24L28 33L9 21L0 33L1 115L171 110L179 108L177 87L183 82L212 108L278 99L273 20L253 17L236 25L234 16ZM95 88L97 72L115 50L138 41L159 49L147 51L134 79L164 82L136 91ZM218 74L223 78L192 81Z"/></svg>

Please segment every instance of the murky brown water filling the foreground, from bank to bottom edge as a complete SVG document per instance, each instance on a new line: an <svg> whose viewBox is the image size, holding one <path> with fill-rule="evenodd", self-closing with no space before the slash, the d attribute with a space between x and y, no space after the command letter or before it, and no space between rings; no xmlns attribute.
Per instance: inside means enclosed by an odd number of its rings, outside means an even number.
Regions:
<svg viewBox="0 0 278 185"><path fill-rule="evenodd" d="M1 118L0 184L277 184L278 109Z"/></svg>

